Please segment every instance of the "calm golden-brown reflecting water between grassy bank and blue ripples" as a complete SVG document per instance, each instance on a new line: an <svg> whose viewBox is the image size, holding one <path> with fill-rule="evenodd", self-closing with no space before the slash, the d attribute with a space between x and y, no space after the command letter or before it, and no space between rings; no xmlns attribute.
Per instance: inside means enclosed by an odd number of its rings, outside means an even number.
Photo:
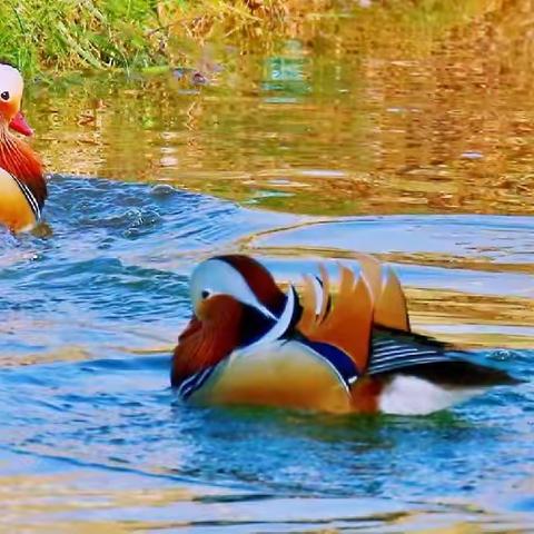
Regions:
<svg viewBox="0 0 534 534"><path fill-rule="evenodd" d="M207 86L33 87L36 146L53 171L285 211L532 214L534 9L431 3L310 14L268 56L215 47Z"/></svg>

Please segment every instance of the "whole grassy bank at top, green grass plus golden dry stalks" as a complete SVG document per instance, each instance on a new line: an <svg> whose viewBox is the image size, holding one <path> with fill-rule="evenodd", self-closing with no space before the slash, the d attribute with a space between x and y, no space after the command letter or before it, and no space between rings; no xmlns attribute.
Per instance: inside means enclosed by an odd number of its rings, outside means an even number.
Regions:
<svg viewBox="0 0 534 534"><path fill-rule="evenodd" d="M0 55L27 73L184 65L191 44L201 44L206 39L258 43L266 33L294 27L295 18L310 4L327 8L327 3L8 0L0 6Z"/></svg>

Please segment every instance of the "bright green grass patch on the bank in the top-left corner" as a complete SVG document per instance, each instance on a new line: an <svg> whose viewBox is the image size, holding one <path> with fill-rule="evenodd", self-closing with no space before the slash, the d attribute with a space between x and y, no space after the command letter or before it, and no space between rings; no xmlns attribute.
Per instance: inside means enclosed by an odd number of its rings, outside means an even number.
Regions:
<svg viewBox="0 0 534 534"><path fill-rule="evenodd" d="M8 0L0 50L26 72L129 68L162 61L157 6L145 0Z"/></svg>

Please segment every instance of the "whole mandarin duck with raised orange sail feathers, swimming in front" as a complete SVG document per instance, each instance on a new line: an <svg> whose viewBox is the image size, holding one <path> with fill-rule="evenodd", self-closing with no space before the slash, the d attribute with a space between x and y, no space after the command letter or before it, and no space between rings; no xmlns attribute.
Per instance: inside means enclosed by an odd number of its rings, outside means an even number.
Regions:
<svg viewBox="0 0 534 534"><path fill-rule="evenodd" d="M500 384L504 370L414 334L393 270L360 256L356 278L305 277L300 297L246 256L201 263L190 281L194 316L172 357L171 382L199 404L248 404L335 413L427 414Z"/></svg>

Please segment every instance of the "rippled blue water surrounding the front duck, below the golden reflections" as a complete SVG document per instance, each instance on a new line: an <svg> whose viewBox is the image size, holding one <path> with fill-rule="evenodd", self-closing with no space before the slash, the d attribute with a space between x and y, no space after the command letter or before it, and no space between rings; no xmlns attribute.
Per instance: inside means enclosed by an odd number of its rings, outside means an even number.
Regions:
<svg viewBox="0 0 534 534"><path fill-rule="evenodd" d="M534 352L518 340L533 338L521 324L533 285L507 267L532 264L532 219L284 215L75 176L53 176L50 194L61 201L40 237L1 236L6 532L531 532ZM493 268L475 261L488 244ZM322 257L380 253L408 289L485 295L490 316L515 296L515 323L462 323L431 298L442 320L422 312L416 329L461 338L507 326L518 348L477 352L526 382L429 417L184 406L169 354L190 314L188 274L221 250L255 254L281 280Z"/></svg>

